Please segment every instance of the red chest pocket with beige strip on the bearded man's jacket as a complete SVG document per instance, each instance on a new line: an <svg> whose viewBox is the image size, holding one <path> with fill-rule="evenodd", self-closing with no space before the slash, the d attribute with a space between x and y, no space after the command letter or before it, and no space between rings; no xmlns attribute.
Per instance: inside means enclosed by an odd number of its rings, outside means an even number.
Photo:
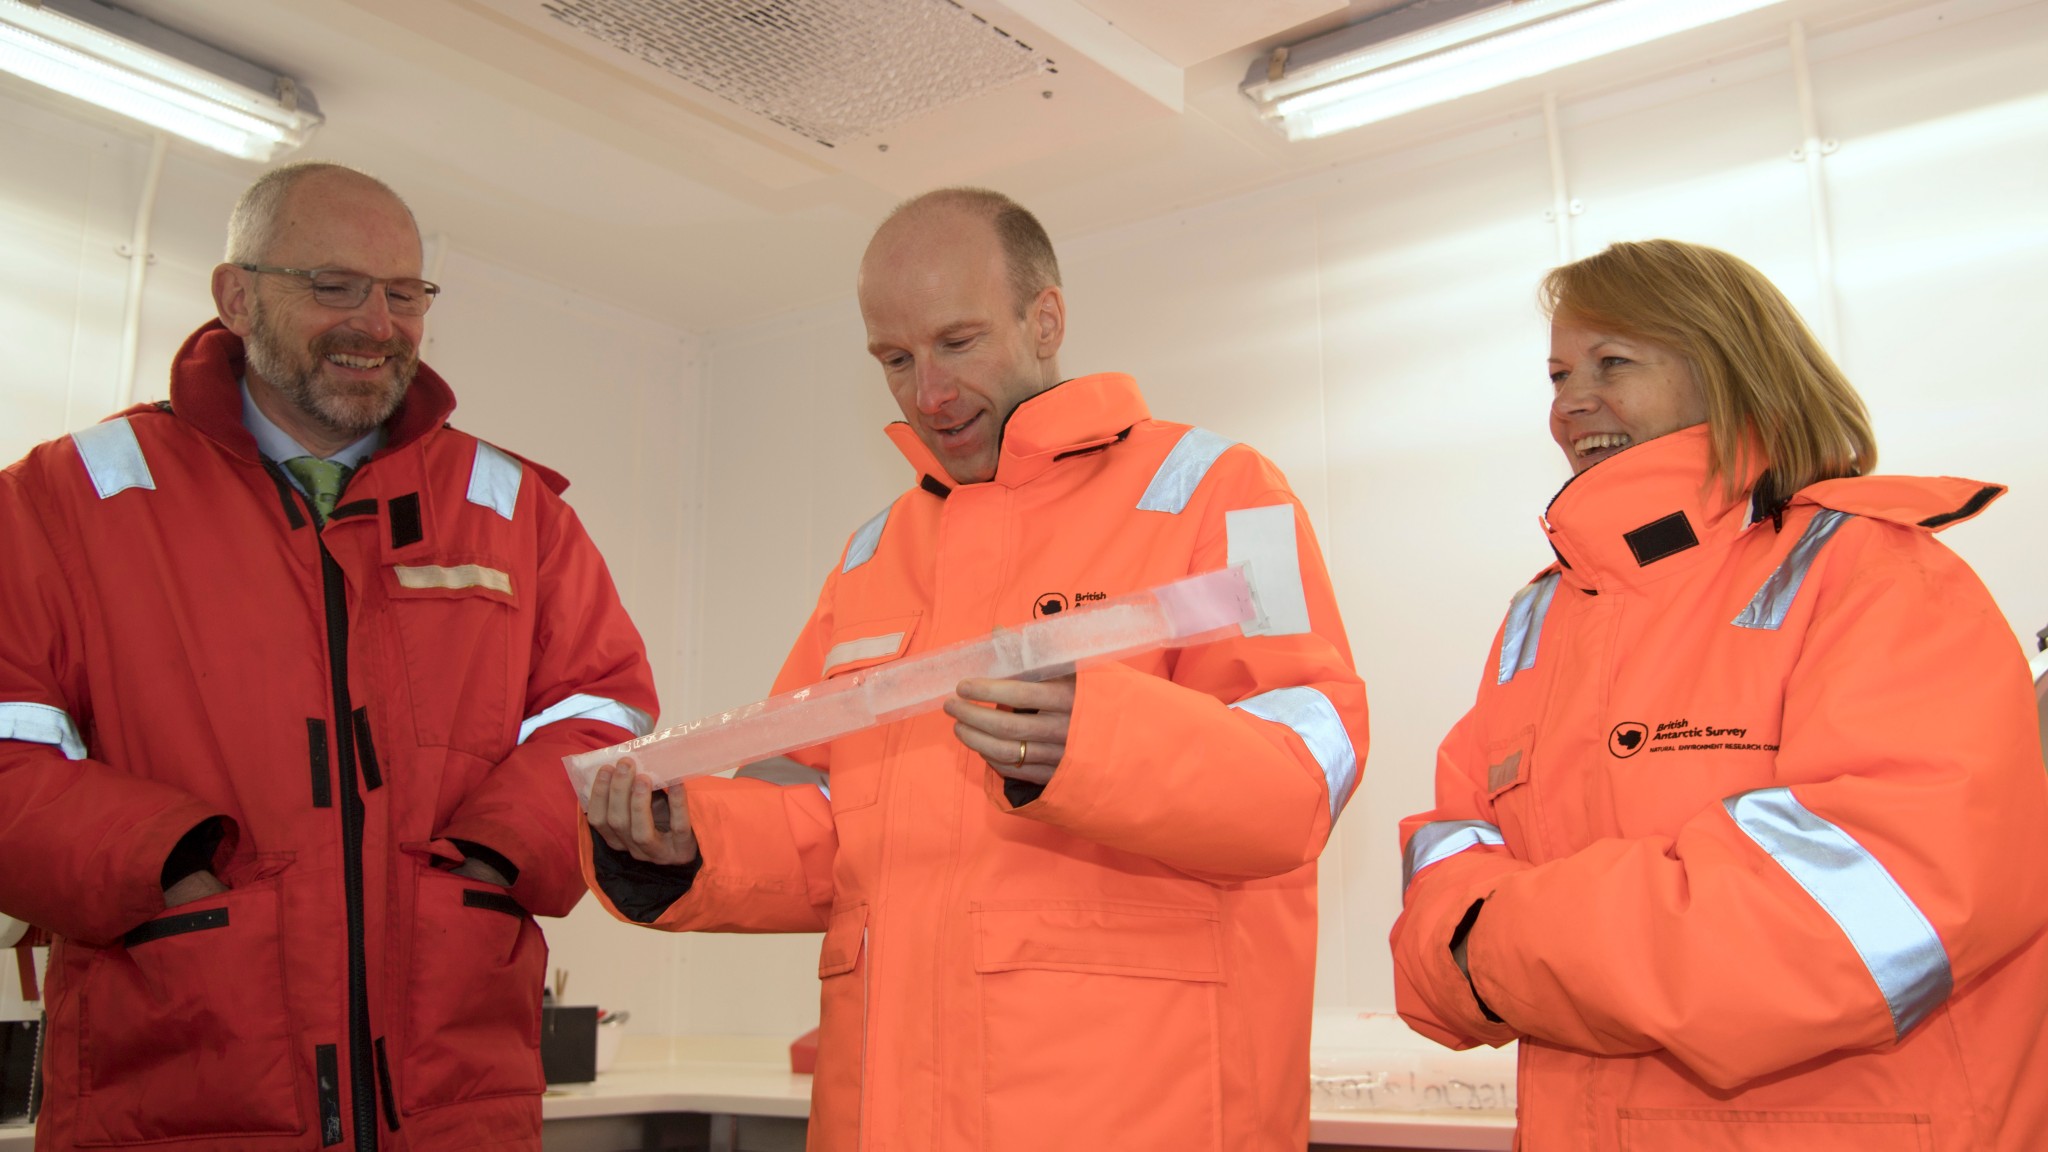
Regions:
<svg viewBox="0 0 2048 1152"><path fill-rule="evenodd" d="M494 556L434 556L383 566L385 611L397 635L422 746L502 758L514 713L512 627L520 596Z"/></svg>

